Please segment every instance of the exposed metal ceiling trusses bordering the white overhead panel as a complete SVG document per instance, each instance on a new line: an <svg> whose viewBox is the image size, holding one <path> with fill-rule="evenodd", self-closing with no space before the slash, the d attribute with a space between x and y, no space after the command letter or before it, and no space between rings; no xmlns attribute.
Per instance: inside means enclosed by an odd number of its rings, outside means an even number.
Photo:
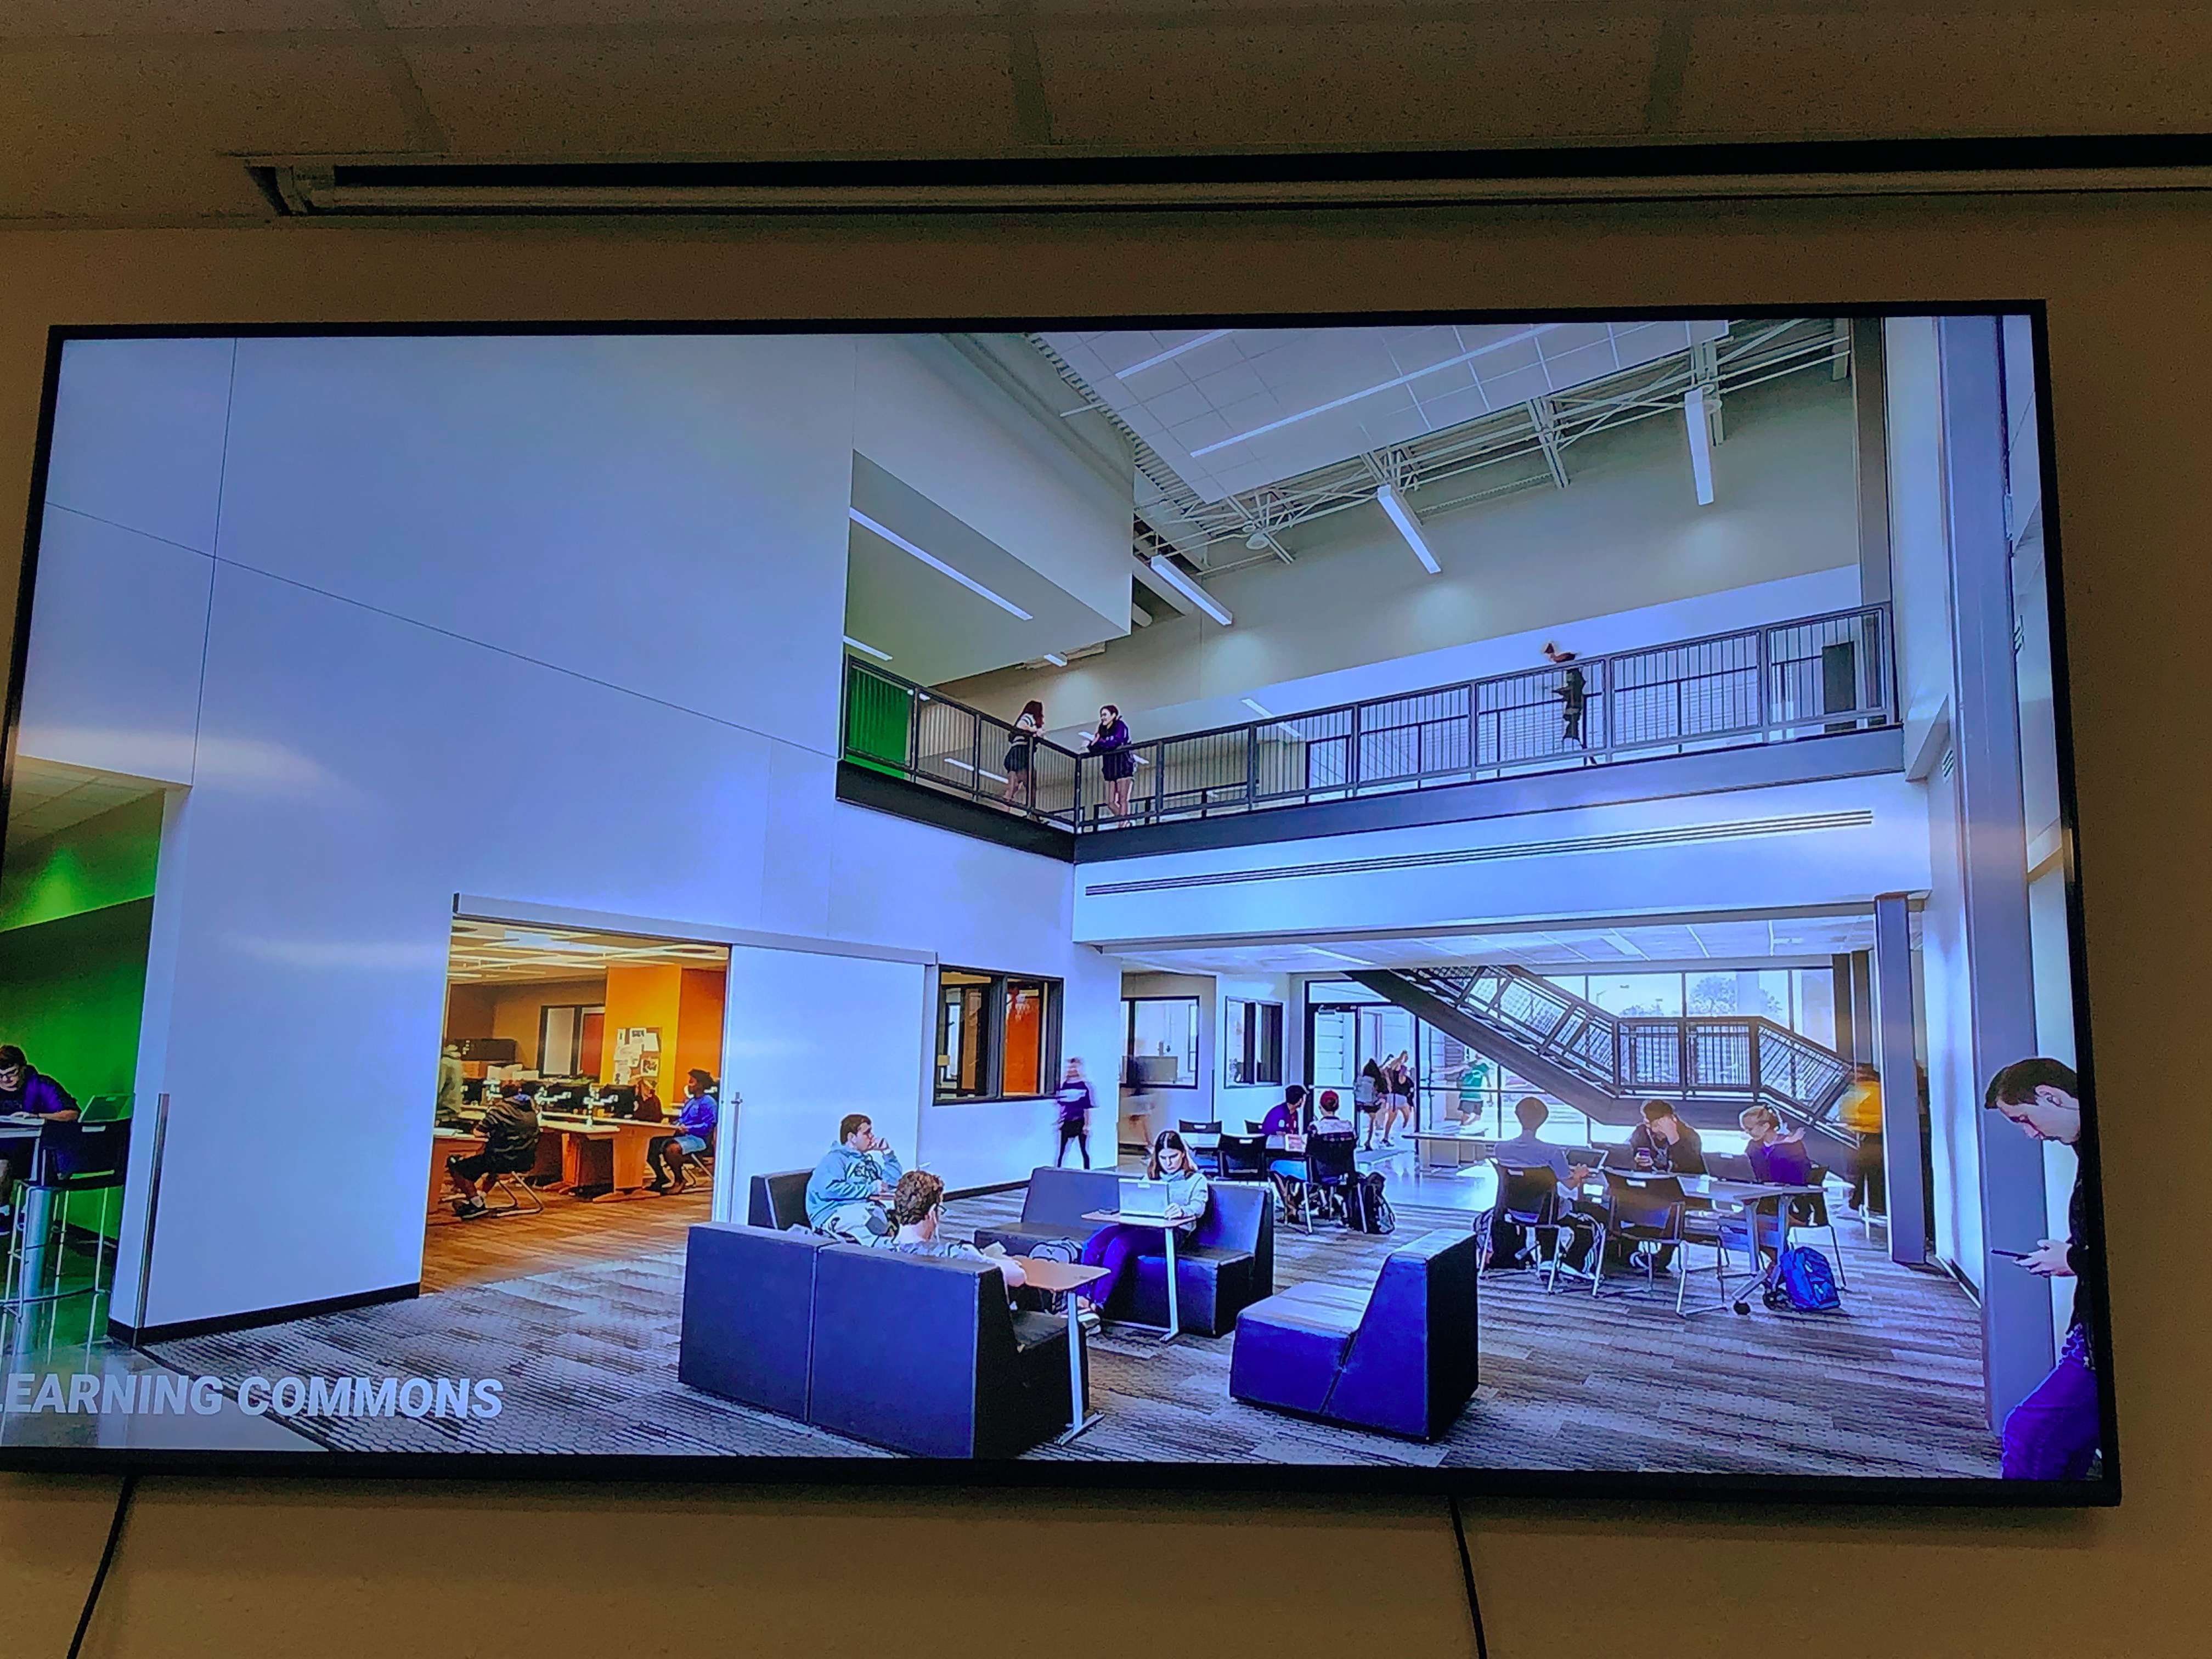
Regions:
<svg viewBox="0 0 2212 1659"><path fill-rule="evenodd" d="M1197 573L1234 571L1261 560L1287 564L1292 555L1276 540L1283 531L1340 513L1347 507L1371 504L1378 482L1389 482L1400 491L1425 491L1422 509L1429 513L1546 482L1566 489L1571 476L1566 453L1573 445L1635 420L1655 416L1679 420L1683 398L1692 387L1705 392L1712 438L1719 442L1723 396L1818 367L1827 367L1840 378L1849 374L1851 356L1851 332L1836 319L1736 323L1728 338L1692 345L1688 352L1621 369L1573 392L1533 398L1513 409L1500 409L1389 449L1352 456L1296 478L1206 502L1068 369L1051 345L1035 334L1029 341L1082 394L1082 407L1068 414L1097 414L1113 422L1135 453L1139 478L1137 557L1177 553ZM1500 467L1509 471L1480 478L1486 469ZM1462 487L1455 491L1438 489L1451 482Z"/></svg>

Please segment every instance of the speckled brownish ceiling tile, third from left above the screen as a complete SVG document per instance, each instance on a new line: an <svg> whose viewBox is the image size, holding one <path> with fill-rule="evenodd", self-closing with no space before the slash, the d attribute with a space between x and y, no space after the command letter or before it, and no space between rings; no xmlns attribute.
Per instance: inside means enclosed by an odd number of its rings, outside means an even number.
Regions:
<svg viewBox="0 0 2212 1659"><path fill-rule="evenodd" d="M1648 18L1161 22L1048 18L1037 60L1055 139L1283 146L1626 135L1644 128L1659 40Z"/></svg>

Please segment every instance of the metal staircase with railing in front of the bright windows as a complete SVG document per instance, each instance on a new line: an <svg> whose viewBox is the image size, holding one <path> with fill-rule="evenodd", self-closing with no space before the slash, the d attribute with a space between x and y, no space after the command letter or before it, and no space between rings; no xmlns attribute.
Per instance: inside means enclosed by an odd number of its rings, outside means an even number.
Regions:
<svg viewBox="0 0 2212 1659"><path fill-rule="evenodd" d="M1759 1102L1816 1150L1856 1144L1836 1121L1849 1062L1761 1015L1606 1013L1509 964L1352 978L1601 1124L1632 1124L1646 1099L1666 1099L1697 1128L1734 1128Z"/></svg>

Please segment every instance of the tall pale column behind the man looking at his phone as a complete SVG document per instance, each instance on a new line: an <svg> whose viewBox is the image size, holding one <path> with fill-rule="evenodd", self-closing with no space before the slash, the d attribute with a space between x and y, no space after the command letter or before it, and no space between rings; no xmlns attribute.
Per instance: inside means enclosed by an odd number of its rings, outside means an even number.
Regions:
<svg viewBox="0 0 2212 1659"><path fill-rule="evenodd" d="M2028 847L2020 790L2011 542L2004 533L2004 398L1997 319L1944 316L1942 440L1951 542L1951 708L1966 909L1966 1015L1973 1079L2035 1053ZM2042 1148L1995 1113L1973 1113L1986 1250L2044 1237ZM1991 1427L2051 1369L2051 1292L2011 1261L1982 1263L1982 1369Z"/></svg>

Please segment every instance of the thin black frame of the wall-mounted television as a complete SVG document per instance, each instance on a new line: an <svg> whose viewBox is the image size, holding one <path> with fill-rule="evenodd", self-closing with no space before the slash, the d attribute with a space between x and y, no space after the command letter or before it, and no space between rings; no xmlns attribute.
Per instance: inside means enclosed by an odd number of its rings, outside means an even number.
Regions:
<svg viewBox="0 0 2212 1659"><path fill-rule="evenodd" d="M1783 321L1836 316L2026 316L2035 361L2037 467L2044 502L2044 571L2051 615L2053 726L2059 783L2059 858L2066 885L2066 927L2075 1020L2075 1073L2090 1133L2077 1152L2086 1177L2093 1237L2104 1239L2104 1168L2097 1150L2097 1088L2088 1000L2088 945L2084 931L2079 821L2075 805L2075 732L2066 593L2059 531L2057 445L2048 349L2048 303L2004 301L1801 301L1776 305L1575 305L1575 307L1425 307L1343 312L1124 312L1040 316L774 316L686 321L420 321L420 323L128 323L53 325L40 392L24 511L22 575L9 655L4 743L0 743L0 823L7 821L15 774L15 734L22 717L24 668L31 648L31 611L38 580L40 529L53 458L53 418L60 398L62 352L71 341L113 338L438 338L438 336L586 336L586 334L947 334L1044 332L1066 327L1418 327L1453 323L1619 323L1619 321ZM4 860L4 849L0 849ZM2110 1307L2106 1252L2097 1252L2097 1305ZM303 1310L270 1310L265 1323L299 1318ZM252 1321L263 1323L263 1321ZM564 1482L684 1482L745 1486L973 1486L1075 1491L1190 1491L1190 1493L1305 1493L1305 1495L1442 1495L1486 1500L1610 1500L1610 1502L1759 1502L1843 1506L1944 1509L2110 1509L2119 1504L2119 1411L2112 1380L2110 1321L2090 1327L2099 1409L2099 1471L2079 1482L2008 1482L1975 1475L1790 1475L1790 1473L1655 1473L1586 1469L1467 1469L1367 1464L1206 1464L1206 1462L1020 1462L958 1458L745 1458L745 1455L622 1455L622 1453L361 1453L361 1451L177 1451L150 1447L22 1447L0 1444L0 1471L27 1473L157 1473L157 1475L310 1475L383 1480L564 1480Z"/></svg>

